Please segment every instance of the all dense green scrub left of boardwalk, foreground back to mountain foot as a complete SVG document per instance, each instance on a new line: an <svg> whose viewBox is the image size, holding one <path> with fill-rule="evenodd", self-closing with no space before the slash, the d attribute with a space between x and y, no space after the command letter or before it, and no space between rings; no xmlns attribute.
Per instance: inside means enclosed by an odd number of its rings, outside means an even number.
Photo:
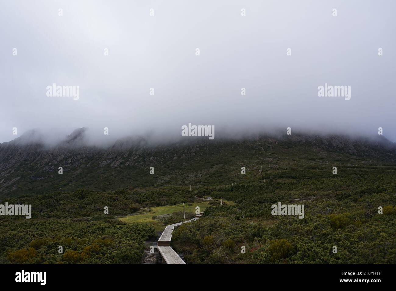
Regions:
<svg viewBox="0 0 396 291"><path fill-rule="evenodd" d="M0 263L140 263L145 240L155 236L152 226L114 219L145 205L143 194L77 190L8 203L32 204L32 218L1 217Z"/></svg>

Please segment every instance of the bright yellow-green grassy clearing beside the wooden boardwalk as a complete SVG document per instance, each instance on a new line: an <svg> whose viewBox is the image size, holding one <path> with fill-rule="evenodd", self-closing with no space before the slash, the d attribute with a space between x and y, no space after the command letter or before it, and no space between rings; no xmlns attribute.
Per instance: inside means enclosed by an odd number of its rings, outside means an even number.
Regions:
<svg viewBox="0 0 396 291"><path fill-rule="evenodd" d="M208 202L194 202L192 205L185 204L185 211L186 212L194 212L195 207L199 206L200 211L205 210L206 207L209 206ZM153 216L163 215L163 214L172 214L175 211L183 211L183 204L177 205L170 205L170 206L160 206L160 207L152 207L150 208L151 211L144 213L144 214L136 214L136 215L129 215L128 217L120 218L121 221L127 223L148 223L154 226L156 231L163 231L165 225L162 221L158 219L152 219Z"/></svg>

